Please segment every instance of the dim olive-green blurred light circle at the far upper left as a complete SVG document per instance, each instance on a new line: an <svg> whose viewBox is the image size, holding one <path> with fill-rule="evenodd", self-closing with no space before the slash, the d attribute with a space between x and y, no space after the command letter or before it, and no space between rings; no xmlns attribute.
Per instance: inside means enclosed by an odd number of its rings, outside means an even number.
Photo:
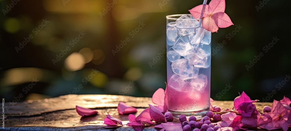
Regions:
<svg viewBox="0 0 291 131"><path fill-rule="evenodd" d="M9 18L4 22L4 29L9 33L16 33L20 29L20 23L15 18Z"/></svg>

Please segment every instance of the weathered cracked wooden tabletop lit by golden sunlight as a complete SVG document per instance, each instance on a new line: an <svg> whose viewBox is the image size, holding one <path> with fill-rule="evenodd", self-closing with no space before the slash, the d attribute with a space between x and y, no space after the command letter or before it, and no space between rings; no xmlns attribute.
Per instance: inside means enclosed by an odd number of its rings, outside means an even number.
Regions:
<svg viewBox="0 0 291 131"><path fill-rule="evenodd" d="M18 102L5 114L4 130L133 130L126 125L109 127L103 124L103 119L108 113L120 119L123 124L128 122L128 115L119 115L116 109L120 101L136 107L138 112L134 114L135 116L148 107L148 103L152 104L151 98L117 95L65 95ZM214 101L212 104L222 109L233 107L233 101ZM259 109L265 105L272 105L260 102L255 104ZM76 105L95 109L99 113L81 118L76 112ZM153 126L146 126L144 130L155 129Z"/></svg>

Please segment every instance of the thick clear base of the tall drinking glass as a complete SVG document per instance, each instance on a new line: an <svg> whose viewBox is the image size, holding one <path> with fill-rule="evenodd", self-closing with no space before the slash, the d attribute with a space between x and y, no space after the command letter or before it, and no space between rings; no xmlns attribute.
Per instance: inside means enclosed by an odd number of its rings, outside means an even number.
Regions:
<svg viewBox="0 0 291 131"><path fill-rule="evenodd" d="M196 119L200 119L200 118L203 118L204 116L206 116L206 113L207 111L209 111L209 107L208 108L204 108L202 110L198 110L198 111L195 111L195 112L175 112L175 111L171 111L171 110L168 110L168 112L171 112L173 117L174 118L178 118L179 119L179 116L181 114L184 114L187 119L190 117L190 116L195 116Z"/></svg>

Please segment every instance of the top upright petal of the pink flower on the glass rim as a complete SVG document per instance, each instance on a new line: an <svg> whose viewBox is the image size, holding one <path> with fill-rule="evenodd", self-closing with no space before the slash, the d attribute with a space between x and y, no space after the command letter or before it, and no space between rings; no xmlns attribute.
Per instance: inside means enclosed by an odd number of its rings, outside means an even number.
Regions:
<svg viewBox="0 0 291 131"><path fill-rule="evenodd" d="M225 0L211 0L209 2L209 12L211 14L225 11Z"/></svg>

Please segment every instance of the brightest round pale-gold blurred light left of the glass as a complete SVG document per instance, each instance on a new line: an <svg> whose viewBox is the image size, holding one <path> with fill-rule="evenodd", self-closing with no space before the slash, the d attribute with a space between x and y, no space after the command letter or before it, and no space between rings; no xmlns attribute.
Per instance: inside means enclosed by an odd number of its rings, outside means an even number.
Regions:
<svg viewBox="0 0 291 131"><path fill-rule="evenodd" d="M85 58L78 52L70 54L64 61L65 68L68 71L77 71L85 66Z"/></svg>

